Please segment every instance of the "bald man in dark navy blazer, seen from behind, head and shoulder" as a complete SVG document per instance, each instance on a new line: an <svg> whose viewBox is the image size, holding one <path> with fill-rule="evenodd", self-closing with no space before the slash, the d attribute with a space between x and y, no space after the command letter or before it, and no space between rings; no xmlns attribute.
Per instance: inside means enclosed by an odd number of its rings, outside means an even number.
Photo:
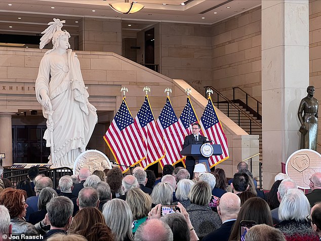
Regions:
<svg viewBox="0 0 321 241"><path fill-rule="evenodd" d="M217 212L222 219L222 226L213 232L206 235L202 240L210 241L228 241L231 234L232 226L237 218L237 214L240 210L240 199L232 193L226 192L220 199L220 204L217 206Z"/></svg>

